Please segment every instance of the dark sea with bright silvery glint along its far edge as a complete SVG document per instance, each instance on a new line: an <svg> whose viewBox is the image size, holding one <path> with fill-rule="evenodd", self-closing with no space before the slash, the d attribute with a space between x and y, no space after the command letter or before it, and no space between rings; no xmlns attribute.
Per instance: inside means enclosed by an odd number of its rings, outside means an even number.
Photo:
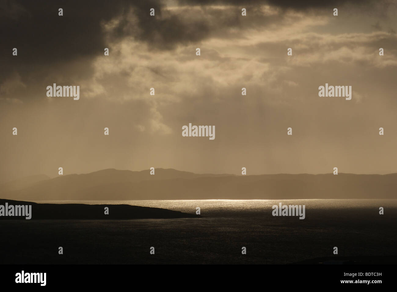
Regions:
<svg viewBox="0 0 397 292"><path fill-rule="evenodd" d="M273 217L272 205L305 205ZM37 201L40 203L40 201ZM0 264L294 263L326 256L396 255L397 200L42 201L120 204L200 219L0 220ZM384 215L379 215L384 207ZM112 208L110 207L110 212ZM64 254L58 254L62 246ZM242 247L247 254L241 254ZM333 255L333 247L339 254ZM150 247L155 254L149 253Z"/></svg>

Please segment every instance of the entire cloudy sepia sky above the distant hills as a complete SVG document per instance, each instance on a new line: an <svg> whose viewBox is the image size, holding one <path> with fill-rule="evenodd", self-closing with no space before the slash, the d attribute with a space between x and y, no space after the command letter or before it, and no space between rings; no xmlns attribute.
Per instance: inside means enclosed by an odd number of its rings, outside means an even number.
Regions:
<svg viewBox="0 0 397 292"><path fill-rule="evenodd" d="M0 1L0 181L60 166L397 172L396 2L327 2ZM80 99L47 97L53 83ZM325 83L352 99L318 97ZM215 139L182 137L189 123Z"/></svg>

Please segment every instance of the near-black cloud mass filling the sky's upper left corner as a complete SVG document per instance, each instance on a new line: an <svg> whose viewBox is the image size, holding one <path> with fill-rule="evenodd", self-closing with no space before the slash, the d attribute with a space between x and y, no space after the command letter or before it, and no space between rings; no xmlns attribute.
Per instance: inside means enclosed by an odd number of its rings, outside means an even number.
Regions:
<svg viewBox="0 0 397 292"><path fill-rule="evenodd" d="M1 1L0 84L15 83L10 78L18 77L27 86L9 94L2 90L0 94L31 98L32 87L48 75L54 76L54 72L67 70L64 64L78 58L89 62L102 53L105 46L100 21L120 14L122 4L122 1ZM58 16L59 8L64 10L64 16ZM12 55L13 48L17 48L17 56Z"/></svg>

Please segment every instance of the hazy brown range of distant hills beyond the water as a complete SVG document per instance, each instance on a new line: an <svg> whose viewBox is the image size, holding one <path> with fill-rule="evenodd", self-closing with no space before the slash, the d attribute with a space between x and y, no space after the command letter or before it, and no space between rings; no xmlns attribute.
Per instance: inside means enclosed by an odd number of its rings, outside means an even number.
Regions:
<svg viewBox="0 0 397 292"><path fill-rule="evenodd" d="M175 169L70 174L0 196L24 200L396 199L397 174L194 174ZM1 187L1 186L0 186Z"/></svg>

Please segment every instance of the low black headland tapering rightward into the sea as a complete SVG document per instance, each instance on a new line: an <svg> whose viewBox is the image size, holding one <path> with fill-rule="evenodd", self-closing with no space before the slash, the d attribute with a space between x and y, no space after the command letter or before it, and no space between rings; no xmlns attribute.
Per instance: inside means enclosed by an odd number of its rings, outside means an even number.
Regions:
<svg viewBox="0 0 397 292"><path fill-rule="evenodd" d="M87 205L87 204L39 204L27 201L0 199L0 207L31 205L31 219L172 219L200 218L196 214L188 214L168 209L140 207L131 205ZM109 208L108 215L105 207ZM4 207L3 207L4 208ZM4 209L3 209L4 210ZM7 211L7 210L6 210ZM0 216L2 219L23 219L25 216Z"/></svg>

